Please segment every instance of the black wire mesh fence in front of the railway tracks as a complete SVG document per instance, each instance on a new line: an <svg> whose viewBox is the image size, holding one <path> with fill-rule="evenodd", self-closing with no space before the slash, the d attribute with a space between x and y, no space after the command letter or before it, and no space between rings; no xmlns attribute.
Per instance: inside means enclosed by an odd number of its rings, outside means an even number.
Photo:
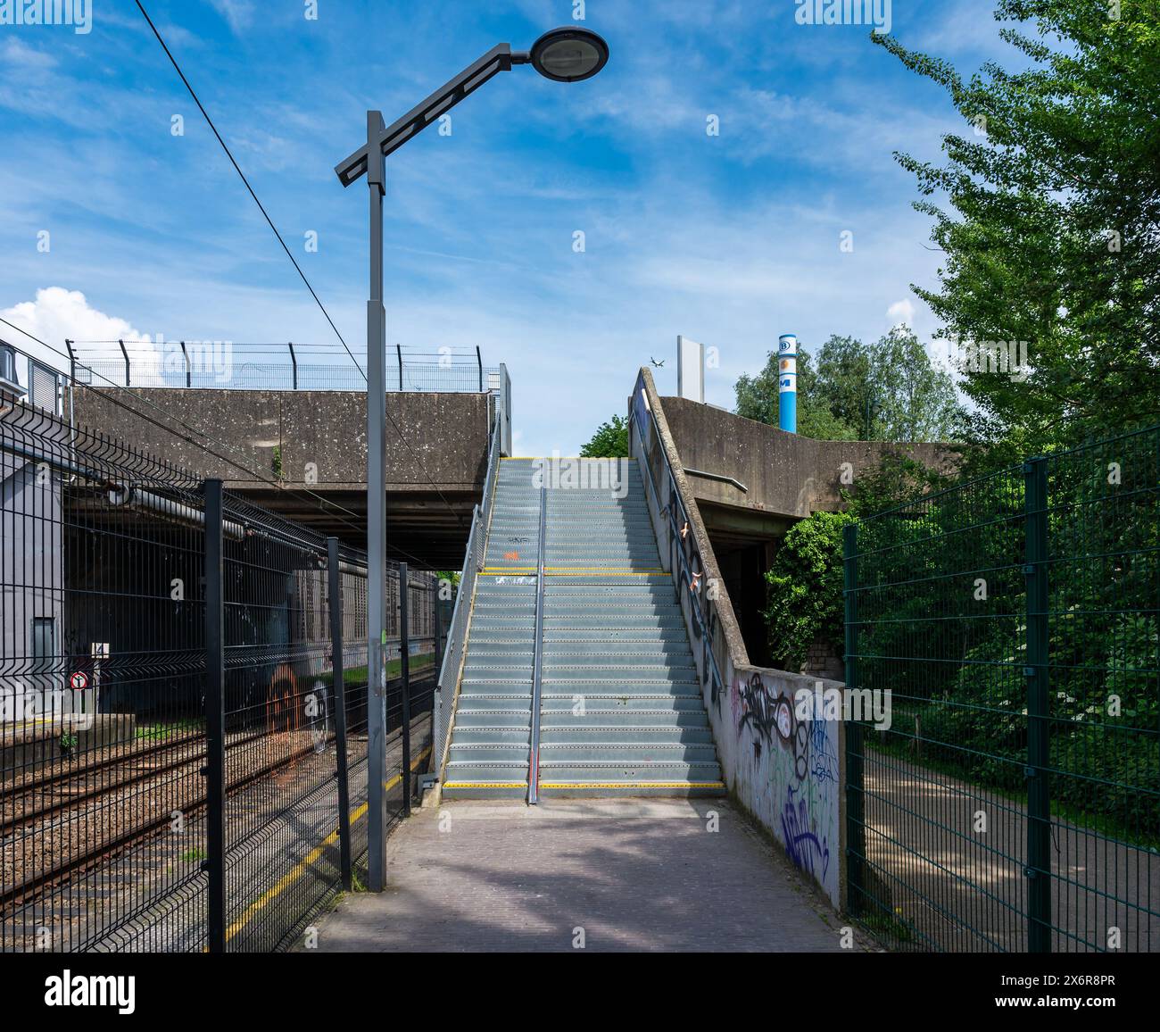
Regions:
<svg viewBox="0 0 1160 1032"><path fill-rule="evenodd" d="M0 950L298 941L367 850L365 555L0 402ZM385 822L436 583L389 569Z"/></svg>

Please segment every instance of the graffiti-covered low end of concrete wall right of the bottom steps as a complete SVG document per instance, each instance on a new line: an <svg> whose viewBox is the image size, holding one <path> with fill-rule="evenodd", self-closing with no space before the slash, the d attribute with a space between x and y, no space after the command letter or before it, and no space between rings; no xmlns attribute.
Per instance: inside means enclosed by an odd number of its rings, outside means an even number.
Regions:
<svg viewBox="0 0 1160 1032"><path fill-rule="evenodd" d="M733 680L732 773L741 800L836 902L840 724L799 713L795 693L802 684L761 671Z"/></svg>

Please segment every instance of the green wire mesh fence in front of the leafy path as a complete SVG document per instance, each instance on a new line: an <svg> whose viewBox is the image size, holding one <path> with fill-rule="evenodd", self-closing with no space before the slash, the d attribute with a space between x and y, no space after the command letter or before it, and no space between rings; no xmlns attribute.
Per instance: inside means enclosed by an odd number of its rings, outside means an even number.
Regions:
<svg viewBox="0 0 1160 1032"><path fill-rule="evenodd" d="M846 539L849 908L892 948L1160 950L1160 427Z"/></svg>

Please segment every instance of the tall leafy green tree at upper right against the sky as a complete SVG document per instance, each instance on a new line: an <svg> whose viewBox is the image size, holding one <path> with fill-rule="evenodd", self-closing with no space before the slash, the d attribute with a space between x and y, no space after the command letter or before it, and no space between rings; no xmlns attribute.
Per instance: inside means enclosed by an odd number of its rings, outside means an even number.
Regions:
<svg viewBox="0 0 1160 1032"><path fill-rule="evenodd" d="M963 383L973 435L1010 461L1160 410L1160 5L1000 0L995 20L1028 67L988 62L964 81L872 38L970 123L943 137L943 166L896 157L945 253L938 289L912 284L942 335L1027 342L1025 378L983 368Z"/></svg>

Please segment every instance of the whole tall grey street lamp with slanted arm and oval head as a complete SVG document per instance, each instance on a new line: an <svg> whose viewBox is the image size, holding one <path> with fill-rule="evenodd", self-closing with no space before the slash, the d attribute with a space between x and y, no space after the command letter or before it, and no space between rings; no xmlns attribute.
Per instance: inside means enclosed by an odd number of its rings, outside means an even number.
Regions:
<svg viewBox="0 0 1160 1032"><path fill-rule="evenodd" d="M565 26L541 36L530 51L500 43L391 125L367 113L367 143L335 166L345 187L367 176L370 188L370 300L367 303L367 833L371 892L384 885L383 795L386 766L386 311L383 308L383 195L386 157L418 136L469 93L500 72L531 65L557 82L590 79L608 63L608 44L589 29ZM406 714L404 720L406 720ZM409 730L409 729L406 729ZM406 732L405 730L405 732ZM403 772L405 807L411 771Z"/></svg>

